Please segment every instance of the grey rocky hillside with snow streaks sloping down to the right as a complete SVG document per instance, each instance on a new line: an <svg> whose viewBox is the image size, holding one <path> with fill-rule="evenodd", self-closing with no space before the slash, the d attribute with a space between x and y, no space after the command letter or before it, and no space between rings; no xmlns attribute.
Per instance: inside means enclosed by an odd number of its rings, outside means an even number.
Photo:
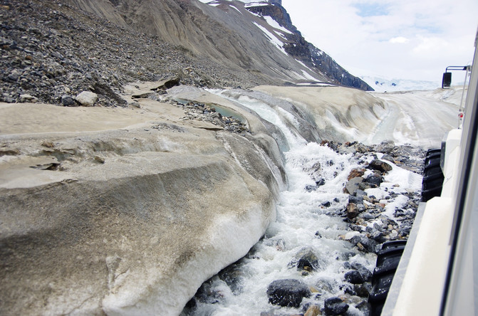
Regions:
<svg viewBox="0 0 478 316"><path fill-rule="evenodd" d="M0 101L59 104L82 90L122 105L135 80L248 88L303 81L370 90L307 43L280 4L2 0Z"/></svg>

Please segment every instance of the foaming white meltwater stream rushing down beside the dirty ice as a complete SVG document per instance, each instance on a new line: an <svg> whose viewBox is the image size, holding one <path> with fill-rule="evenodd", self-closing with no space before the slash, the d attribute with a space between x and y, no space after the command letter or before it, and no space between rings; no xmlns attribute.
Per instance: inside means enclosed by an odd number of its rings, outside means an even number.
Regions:
<svg viewBox="0 0 478 316"><path fill-rule="evenodd" d="M222 95L224 97L224 95ZM307 303L323 307L328 297L344 294L344 273L350 264L360 263L373 270L375 255L360 253L340 236L348 233L347 224L336 212L342 211L348 194L343 186L358 164L351 154L337 154L326 146L307 143L287 126L292 115L256 99L241 97L234 101L257 112L281 129L289 144L285 152L289 187L282 191L277 206L277 221L249 254L202 285L194 308L183 315L296 315L305 312ZM284 122L289 120L289 122ZM320 178L320 179L319 179ZM320 186L308 191L306 186ZM311 269L297 268L304 253L313 253ZM279 307L269 303L267 288L274 280L301 280L312 295L301 307ZM358 302L357 302L358 303ZM305 306L305 307L304 307ZM350 304L348 315L363 315Z"/></svg>

